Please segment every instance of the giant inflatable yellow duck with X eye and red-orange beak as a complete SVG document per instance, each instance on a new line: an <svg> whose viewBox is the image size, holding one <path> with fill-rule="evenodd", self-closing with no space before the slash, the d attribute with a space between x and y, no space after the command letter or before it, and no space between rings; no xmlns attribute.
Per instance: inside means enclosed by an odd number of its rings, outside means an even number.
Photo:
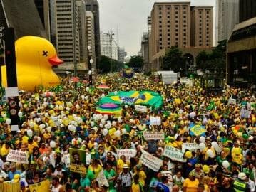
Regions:
<svg viewBox="0 0 256 192"><path fill-rule="evenodd" d="M36 36L24 36L15 42L16 69L19 90L33 91L36 87L60 84L52 66L63 63L50 41ZM6 66L1 67L2 84L6 87Z"/></svg>

